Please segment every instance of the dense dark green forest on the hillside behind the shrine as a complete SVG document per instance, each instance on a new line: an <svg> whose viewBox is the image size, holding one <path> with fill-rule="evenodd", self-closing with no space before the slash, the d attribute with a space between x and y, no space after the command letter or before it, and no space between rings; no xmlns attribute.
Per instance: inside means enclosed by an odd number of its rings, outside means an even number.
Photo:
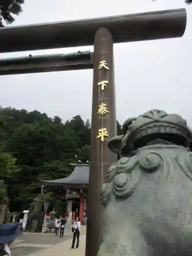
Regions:
<svg viewBox="0 0 192 256"><path fill-rule="evenodd" d="M118 122L117 130L120 134ZM29 208L40 193L41 180L68 176L75 155L82 163L90 159L90 136L90 121L79 115L63 124L58 116L1 108L0 199L7 193L10 211Z"/></svg>

